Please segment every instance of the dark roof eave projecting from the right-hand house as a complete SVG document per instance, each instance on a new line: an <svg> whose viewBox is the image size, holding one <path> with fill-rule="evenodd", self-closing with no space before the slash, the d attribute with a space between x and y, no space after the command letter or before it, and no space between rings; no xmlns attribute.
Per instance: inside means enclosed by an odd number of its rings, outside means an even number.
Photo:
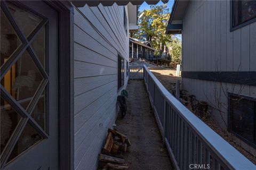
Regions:
<svg viewBox="0 0 256 170"><path fill-rule="evenodd" d="M172 6L172 12L166 27L166 34L180 34L182 31L182 20L186 13L189 1L175 0Z"/></svg>

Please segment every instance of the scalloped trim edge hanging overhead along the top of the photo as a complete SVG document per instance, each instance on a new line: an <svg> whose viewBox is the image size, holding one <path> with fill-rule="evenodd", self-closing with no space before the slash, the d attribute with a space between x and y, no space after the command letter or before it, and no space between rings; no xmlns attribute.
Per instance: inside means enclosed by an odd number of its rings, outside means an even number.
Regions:
<svg viewBox="0 0 256 170"><path fill-rule="evenodd" d="M167 3L169 0L162 0L163 3ZM115 1L108 1L108 0L102 0L102 1L71 1L75 7L84 7L85 4L89 6L98 6L100 3L103 6L111 6L114 3L117 5L127 5L129 2L131 2L133 5L141 5L144 1L137 1L137 0L131 0L131 1L126 1L126 0L115 0ZM159 2L155 0L148 0L146 3L148 5L155 5Z"/></svg>

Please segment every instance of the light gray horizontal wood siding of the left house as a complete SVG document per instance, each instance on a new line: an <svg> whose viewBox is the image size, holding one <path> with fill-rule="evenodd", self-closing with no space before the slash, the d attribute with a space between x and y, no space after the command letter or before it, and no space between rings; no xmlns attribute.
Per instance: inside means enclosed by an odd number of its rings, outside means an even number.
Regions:
<svg viewBox="0 0 256 170"><path fill-rule="evenodd" d="M107 129L114 124L117 105L117 57L129 60L129 37L123 6L75 8L74 114L75 169L97 169Z"/></svg>

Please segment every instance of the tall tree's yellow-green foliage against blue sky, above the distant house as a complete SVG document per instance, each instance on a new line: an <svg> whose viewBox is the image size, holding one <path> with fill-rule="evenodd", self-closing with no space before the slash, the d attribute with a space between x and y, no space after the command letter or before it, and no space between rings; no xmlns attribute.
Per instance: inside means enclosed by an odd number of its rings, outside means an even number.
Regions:
<svg viewBox="0 0 256 170"><path fill-rule="evenodd" d="M171 41L171 35L166 35L165 30L170 17L169 8L166 4L151 5L150 10L144 10L138 13L142 17L138 20L139 30L132 36L140 39L142 35L147 35L151 45L155 49L159 49L160 43L162 48Z"/></svg>

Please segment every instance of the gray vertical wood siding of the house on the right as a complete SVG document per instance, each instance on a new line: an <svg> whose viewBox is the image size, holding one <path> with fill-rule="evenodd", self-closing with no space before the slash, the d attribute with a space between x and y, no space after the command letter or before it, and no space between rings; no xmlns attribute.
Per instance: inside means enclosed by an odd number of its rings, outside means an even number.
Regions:
<svg viewBox="0 0 256 170"><path fill-rule="evenodd" d="M256 22L230 32L230 1L191 1L183 18L182 50L182 71L256 71ZM256 97L255 86L187 78L182 86L212 106L212 116L223 129L216 108L220 102L227 122L227 92ZM255 155L253 147L239 139L237 143Z"/></svg>

